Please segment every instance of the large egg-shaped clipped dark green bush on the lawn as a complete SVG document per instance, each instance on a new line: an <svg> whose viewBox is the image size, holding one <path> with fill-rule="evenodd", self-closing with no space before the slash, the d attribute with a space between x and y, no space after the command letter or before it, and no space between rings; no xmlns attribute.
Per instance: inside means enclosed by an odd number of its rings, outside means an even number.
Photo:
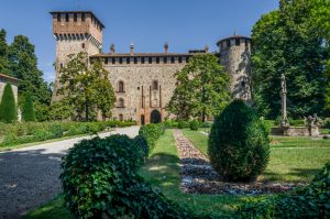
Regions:
<svg viewBox="0 0 330 219"><path fill-rule="evenodd" d="M268 132L251 108L234 100L211 128L208 154L212 167L224 179L253 179L268 163Z"/></svg>

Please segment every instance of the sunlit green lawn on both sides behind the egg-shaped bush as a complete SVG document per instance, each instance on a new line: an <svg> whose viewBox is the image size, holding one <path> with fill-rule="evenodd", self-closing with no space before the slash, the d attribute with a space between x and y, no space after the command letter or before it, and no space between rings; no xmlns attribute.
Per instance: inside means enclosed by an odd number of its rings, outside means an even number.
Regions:
<svg viewBox="0 0 330 219"><path fill-rule="evenodd" d="M205 155L208 136L200 132L183 133ZM271 158L263 180L308 183L330 161L330 140L308 136L272 136Z"/></svg>

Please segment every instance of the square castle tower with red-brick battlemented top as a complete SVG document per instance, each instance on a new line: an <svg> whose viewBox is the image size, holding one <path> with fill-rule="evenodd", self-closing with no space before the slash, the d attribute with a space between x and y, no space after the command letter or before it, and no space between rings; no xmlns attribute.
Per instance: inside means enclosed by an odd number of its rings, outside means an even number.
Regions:
<svg viewBox="0 0 330 219"><path fill-rule="evenodd" d="M91 11L53 11L53 34L56 40L55 85L52 101L58 100L59 70L68 55L86 52L88 56L100 53L105 25Z"/></svg>

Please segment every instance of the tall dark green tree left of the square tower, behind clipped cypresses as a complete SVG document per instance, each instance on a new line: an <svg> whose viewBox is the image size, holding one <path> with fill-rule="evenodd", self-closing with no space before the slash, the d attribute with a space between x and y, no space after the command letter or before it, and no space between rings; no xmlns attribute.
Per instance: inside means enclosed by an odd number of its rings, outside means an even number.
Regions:
<svg viewBox="0 0 330 219"><path fill-rule="evenodd" d="M51 91L43 80L43 73L37 68L37 58L26 36L18 35L10 45L9 53L10 69L13 76L19 78L19 95L30 92L36 102L48 105Z"/></svg>

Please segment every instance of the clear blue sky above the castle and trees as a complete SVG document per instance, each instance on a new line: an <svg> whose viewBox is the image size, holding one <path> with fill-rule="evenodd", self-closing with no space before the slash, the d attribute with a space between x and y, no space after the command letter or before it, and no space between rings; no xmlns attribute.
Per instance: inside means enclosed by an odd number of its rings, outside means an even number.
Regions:
<svg viewBox="0 0 330 219"><path fill-rule="evenodd" d="M91 10L106 25L103 51L111 43L116 52L187 52L232 35L251 35L253 24L275 10L278 0L0 0L0 29L8 42L26 35L35 45L38 67L47 81L54 80L55 41L52 35L53 10Z"/></svg>

